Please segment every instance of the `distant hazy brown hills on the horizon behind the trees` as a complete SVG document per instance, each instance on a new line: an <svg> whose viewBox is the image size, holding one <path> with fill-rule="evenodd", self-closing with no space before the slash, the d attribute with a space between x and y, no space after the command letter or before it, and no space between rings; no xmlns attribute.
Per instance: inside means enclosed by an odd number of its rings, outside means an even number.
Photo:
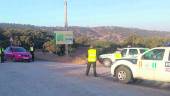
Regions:
<svg viewBox="0 0 170 96"><path fill-rule="evenodd" d="M45 32L52 33L53 31L62 31L63 27L45 27L34 25L22 25L22 24L8 24L0 23L0 28L14 28L14 29L29 29L29 30L43 30ZM70 31L74 32L75 37L88 37L94 40L107 40L107 41L121 41L132 34L136 34L143 37L170 37L170 32L166 31L150 31L137 28L124 28L115 26L100 26L100 27L80 27L71 26Z"/></svg>

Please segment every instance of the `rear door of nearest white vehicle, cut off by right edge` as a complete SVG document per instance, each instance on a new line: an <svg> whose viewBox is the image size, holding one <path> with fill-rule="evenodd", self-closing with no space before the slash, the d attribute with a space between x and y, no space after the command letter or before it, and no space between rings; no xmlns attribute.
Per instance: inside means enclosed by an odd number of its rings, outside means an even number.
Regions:
<svg viewBox="0 0 170 96"><path fill-rule="evenodd" d="M155 78L159 81L170 82L170 51L167 50L164 55L162 62L157 63Z"/></svg>

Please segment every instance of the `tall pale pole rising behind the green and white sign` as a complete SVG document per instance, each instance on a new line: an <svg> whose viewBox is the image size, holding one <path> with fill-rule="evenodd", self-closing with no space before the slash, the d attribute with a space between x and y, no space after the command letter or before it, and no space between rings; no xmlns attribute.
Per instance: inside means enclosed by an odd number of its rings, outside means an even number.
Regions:
<svg viewBox="0 0 170 96"><path fill-rule="evenodd" d="M67 0L64 0L64 21L65 21L65 31L68 31ZM68 53L68 44L65 44L65 54L66 54L66 56L69 55L69 53Z"/></svg>

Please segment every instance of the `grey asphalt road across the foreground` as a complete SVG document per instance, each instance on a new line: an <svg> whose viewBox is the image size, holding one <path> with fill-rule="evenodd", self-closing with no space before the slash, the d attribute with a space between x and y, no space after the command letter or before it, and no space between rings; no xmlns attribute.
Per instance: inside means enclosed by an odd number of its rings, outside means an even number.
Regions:
<svg viewBox="0 0 170 96"><path fill-rule="evenodd" d="M0 64L0 96L170 96L169 90L115 82L105 68L98 68L97 78L86 77L85 67L46 61Z"/></svg>

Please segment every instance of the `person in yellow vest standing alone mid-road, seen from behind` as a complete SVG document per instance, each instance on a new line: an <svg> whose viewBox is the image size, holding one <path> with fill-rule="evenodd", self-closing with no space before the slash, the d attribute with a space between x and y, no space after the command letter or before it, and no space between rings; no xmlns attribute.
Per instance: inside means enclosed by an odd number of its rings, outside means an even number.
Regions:
<svg viewBox="0 0 170 96"><path fill-rule="evenodd" d="M97 61L96 49L93 48L93 46L90 46L90 48L88 49L88 64L87 64L87 69L86 69L86 76L88 76L91 64L93 64L93 73L94 73L94 76L97 77L96 61Z"/></svg>

